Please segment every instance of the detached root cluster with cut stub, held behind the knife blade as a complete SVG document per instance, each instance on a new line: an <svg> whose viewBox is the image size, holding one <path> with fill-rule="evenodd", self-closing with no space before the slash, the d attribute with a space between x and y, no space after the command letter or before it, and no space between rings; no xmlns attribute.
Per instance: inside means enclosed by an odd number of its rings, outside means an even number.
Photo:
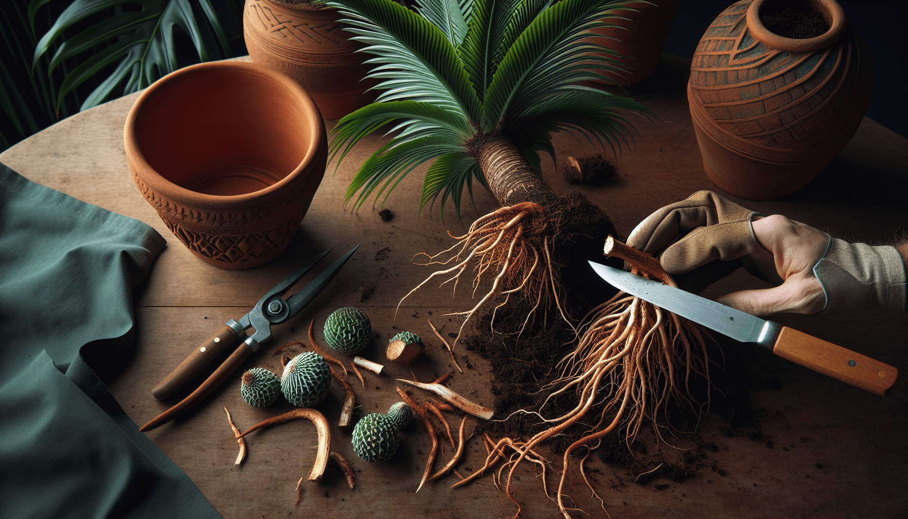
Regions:
<svg viewBox="0 0 908 519"><path fill-rule="evenodd" d="M607 252L627 260L635 274L675 285L671 276L649 255L611 237ZM696 324L637 297L616 294L590 311L577 330L581 333L577 346L559 363L561 376L545 386L549 394L538 410L544 422L552 426L526 442L510 445L518 454L515 454L516 459L509 458L505 465L510 466L505 483L505 491L510 496L511 481L518 465L525 459L536 463L531 458L534 447L574 424L585 427L584 435L565 451L555 496L558 509L568 519L570 513L577 510L568 507L564 499L571 453L584 445L590 450L596 448L599 440L618 429L624 432L623 440L629 447L644 424L651 424L657 440L668 444L664 432L672 425L666 410L686 407L699 416L708 405L711 384L706 341ZM706 403L697 402L691 394L690 384L695 378L706 383ZM577 406L561 416L545 417L546 405L563 394L576 394ZM594 404L601 406L601 411L589 418L587 413ZM503 453L496 454L502 442L505 439L490 452L487 467L498 459L494 456L504 456ZM586 457L580 460L581 474ZM459 484L466 483L471 477ZM587 481L585 474L584 479ZM517 505L519 514L520 505Z"/></svg>

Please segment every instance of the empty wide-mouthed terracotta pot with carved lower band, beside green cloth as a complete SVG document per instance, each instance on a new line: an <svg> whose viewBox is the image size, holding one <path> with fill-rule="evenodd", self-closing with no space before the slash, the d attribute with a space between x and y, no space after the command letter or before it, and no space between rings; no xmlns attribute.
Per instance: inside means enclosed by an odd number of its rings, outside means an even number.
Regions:
<svg viewBox="0 0 908 519"><path fill-rule="evenodd" d="M262 65L209 62L165 75L123 131L133 181L192 254L264 264L290 244L327 164L319 109Z"/></svg>

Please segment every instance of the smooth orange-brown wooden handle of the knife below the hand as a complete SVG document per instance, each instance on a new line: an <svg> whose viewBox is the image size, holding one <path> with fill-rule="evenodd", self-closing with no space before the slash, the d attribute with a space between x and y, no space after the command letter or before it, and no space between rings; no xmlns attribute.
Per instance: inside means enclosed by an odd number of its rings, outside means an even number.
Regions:
<svg viewBox="0 0 908 519"><path fill-rule="evenodd" d="M899 378L899 370L889 364L788 326L775 339L773 353L880 396L889 394Z"/></svg>

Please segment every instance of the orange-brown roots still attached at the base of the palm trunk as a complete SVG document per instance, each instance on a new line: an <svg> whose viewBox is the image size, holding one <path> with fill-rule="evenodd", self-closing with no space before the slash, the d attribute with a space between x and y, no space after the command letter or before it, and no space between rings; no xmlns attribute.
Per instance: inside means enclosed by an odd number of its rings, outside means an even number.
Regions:
<svg viewBox="0 0 908 519"><path fill-rule="evenodd" d="M561 304L563 290L557 276L553 275L555 268L551 260L553 237L558 235L561 224L558 217L549 215L541 205L532 202L501 207L489 215L481 216L470 225L466 235L454 236L449 233L450 237L458 240L458 244L437 255L420 253L429 258L426 265L452 266L429 275L409 294L404 295L400 302L439 276L449 276L441 284L454 282L453 289L457 290L461 276L472 269L475 273L471 283L474 295L483 282L490 281L492 285L472 309L450 314L466 316L460 325L460 334L470 318L489 299L496 295L505 296L504 301L496 306L495 309L498 310L508 304L512 294L518 292L522 293L531 307L524 326L535 316L537 310L548 308L551 302L558 306L558 311L569 323ZM400 308L400 304L398 307ZM494 326L494 312L492 323ZM447 343L443 337L442 341ZM453 356L453 350L449 351Z"/></svg>

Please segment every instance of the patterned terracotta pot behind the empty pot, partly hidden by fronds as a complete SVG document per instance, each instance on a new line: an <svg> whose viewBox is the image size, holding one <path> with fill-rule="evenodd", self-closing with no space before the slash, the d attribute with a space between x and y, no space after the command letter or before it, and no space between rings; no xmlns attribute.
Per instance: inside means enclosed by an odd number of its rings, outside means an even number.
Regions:
<svg viewBox="0 0 908 519"><path fill-rule="evenodd" d="M373 80L363 80L369 55L350 41L337 9L312 8L271 0L246 0L243 35L252 62L295 79L319 105L326 119L340 119L375 100Z"/></svg>

